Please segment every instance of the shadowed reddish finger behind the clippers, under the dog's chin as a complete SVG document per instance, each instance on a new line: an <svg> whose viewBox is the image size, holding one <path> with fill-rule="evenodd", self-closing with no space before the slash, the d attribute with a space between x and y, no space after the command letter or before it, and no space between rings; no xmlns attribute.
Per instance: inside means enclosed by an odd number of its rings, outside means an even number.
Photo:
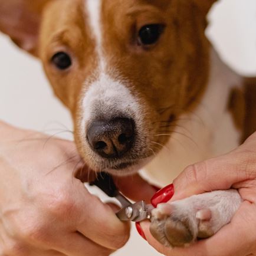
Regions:
<svg viewBox="0 0 256 256"><path fill-rule="evenodd" d="M150 202L150 198L157 192L157 188L142 179L139 174L126 177L113 177L117 188L134 201L145 200Z"/></svg>

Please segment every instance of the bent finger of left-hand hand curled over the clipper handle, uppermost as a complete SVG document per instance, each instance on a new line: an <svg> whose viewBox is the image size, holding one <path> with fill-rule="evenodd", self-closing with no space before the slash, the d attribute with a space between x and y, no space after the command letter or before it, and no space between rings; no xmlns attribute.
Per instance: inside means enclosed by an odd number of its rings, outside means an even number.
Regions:
<svg viewBox="0 0 256 256"><path fill-rule="evenodd" d="M82 195L78 195L81 200L77 213L77 231L103 247L112 250L123 247L129 239L129 223L120 221L109 205L91 195L83 183L81 186L78 188Z"/></svg>

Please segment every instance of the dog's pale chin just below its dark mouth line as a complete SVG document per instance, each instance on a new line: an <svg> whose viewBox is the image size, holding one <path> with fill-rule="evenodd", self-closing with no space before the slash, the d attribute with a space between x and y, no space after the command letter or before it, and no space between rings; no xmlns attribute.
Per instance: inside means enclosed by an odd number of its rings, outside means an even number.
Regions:
<svg viewBox="0 0 256 256"><path fill-rule="evenodd" d="M134 175L140 169L143 168L147 163L150 162L151 157L147 157L143 160L138 160L134 162L124 162L119 165L111 166L111 168L107 168L104 171L110 173L115 176L129 176Z"/></svg>

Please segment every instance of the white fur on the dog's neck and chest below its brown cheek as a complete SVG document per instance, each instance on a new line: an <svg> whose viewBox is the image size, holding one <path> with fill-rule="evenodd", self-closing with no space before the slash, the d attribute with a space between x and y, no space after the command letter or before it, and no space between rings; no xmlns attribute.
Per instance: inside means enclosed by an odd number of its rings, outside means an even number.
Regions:
<svg viewBox="0 0 256 256"><path fill-rule="evenodd" d="M193 113L180 117L175 129L178 133L172 134L166 147L146 167L146 176L166 185L186 166L239 145L240 133L227 110L229 93L235 86L241 86L241 78L212 50L209 83L201 103Z"/></svg>

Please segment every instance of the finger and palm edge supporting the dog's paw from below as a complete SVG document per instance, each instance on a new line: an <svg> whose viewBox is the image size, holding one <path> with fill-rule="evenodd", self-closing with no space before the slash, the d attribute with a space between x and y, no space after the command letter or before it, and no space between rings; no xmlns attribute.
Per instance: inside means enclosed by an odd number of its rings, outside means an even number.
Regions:
<svg viewBox="0 0 256 256"><path fill-rule="evenodd" d="M167 256L245 256L256 248L255 214L256 206L245 201L230 224L211 238L198 241L187 248L166 248L150 234L149 222L142 222L140 225L149 244Z"/></svg>

